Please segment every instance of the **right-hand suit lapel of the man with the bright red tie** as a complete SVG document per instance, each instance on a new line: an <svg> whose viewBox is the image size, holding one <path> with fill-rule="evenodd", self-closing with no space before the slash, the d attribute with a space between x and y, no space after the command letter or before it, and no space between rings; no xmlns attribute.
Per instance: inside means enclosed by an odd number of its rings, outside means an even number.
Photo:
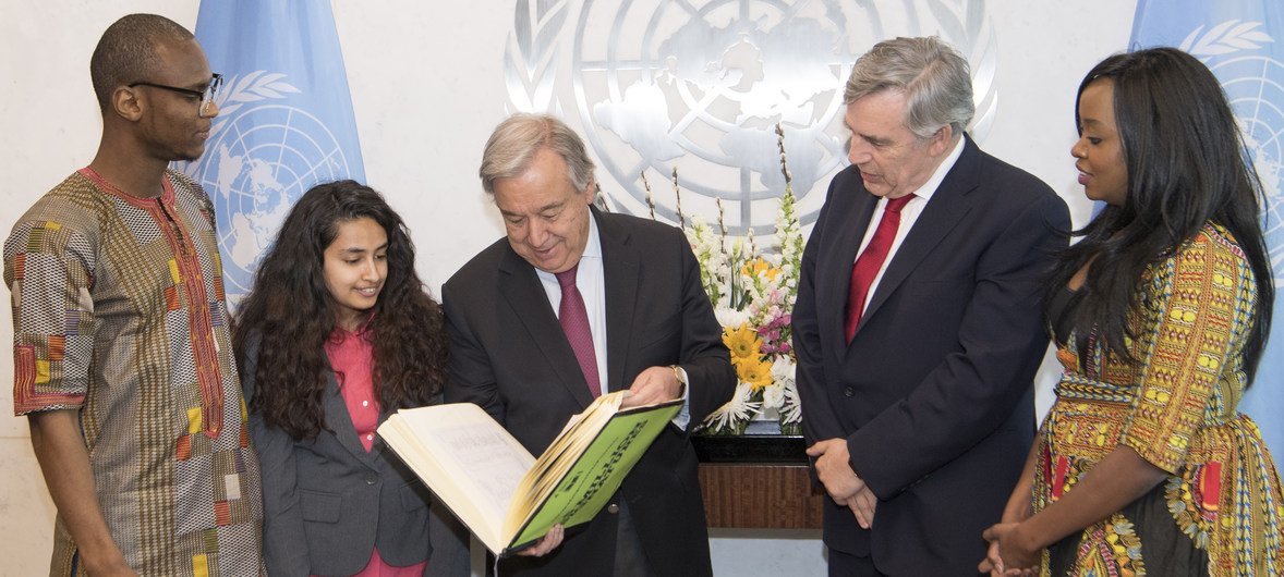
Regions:
<svg viewBox="0 0 1284 577"><path fill-rule="evenodd" d="M891 263L887 263L887 269L883 271L882 280L878 281L874 294L869 296L869 305L865 306L862 323L856 327L856 335L865 326L864 319L873 317L878 312L891 294L918 268L923 258L972 210L968 192L977 186L977 168L980 167L981 153L971 138L967 136L964 138L966 142L963 144L963 153L959 155L959 159L950 168L950 172L945 174L945 180L936 188L923 213L914 221L914 227L909 230L909 235L905 236L900 247L896 249Z"/></svg>

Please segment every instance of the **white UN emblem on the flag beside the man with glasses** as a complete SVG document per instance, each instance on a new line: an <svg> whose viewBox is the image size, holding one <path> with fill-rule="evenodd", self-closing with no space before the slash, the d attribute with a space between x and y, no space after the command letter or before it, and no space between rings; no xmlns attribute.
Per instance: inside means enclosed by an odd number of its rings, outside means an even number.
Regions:
<svg viewBox="0 0 1284 577"><path fill-rule="evenodd" d="M220 97L205 154L184 171L214 204L227 300L235 305L294 201L317 182L353 172L330 127L285 100L282 92L298 90L284 74L259 71L229 85L236 90Z"/></svg>

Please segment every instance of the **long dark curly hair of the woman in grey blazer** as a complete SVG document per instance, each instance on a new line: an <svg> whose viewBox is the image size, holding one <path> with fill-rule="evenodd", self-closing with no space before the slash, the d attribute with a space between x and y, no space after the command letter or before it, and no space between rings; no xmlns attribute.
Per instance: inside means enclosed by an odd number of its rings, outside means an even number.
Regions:
<svg viewBox="0 0 1284 577"><path fill-rule="evenodd" d="M446 382L444 315L415 273L415 245L406 224L369 186L317 185L285 217L234 328L236 363L254 380L250 410L295 440L327 428L322 396L330 364L324 346L335 328L338 305L325 283L325 249L340 223L360 218L374 219L388 235L388 277L370 321L380 409L433 403ZM252 340L258 341L258 356L253 374L247 374Z"/></svg>

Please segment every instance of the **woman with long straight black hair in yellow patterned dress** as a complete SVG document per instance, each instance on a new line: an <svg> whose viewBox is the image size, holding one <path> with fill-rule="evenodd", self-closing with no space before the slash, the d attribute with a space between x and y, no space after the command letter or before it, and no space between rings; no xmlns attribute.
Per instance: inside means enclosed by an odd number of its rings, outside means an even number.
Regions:
<svg viewBox="0 0 1284 577"><path fill-rule="evenodd" d="M1107 206L1049 277L1064 372L980 568L1278 574L1284 499L1236 410L1274 285L1226 97L1190 55L1141 50L1088 73L1076 121L1079 182Z"/></svg>

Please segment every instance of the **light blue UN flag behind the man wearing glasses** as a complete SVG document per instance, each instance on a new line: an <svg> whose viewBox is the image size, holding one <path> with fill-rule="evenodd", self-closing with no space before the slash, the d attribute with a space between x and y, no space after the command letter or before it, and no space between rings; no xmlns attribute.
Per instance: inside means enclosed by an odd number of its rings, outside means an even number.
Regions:
<svg viewBox="0 0 1284 577"><path fill-rule="evenodd" d="M223 76L220 112L204 156L177 168L214 203L235 305L294 201L365 169L329 1L207 0L196 40Z"/></svg>

